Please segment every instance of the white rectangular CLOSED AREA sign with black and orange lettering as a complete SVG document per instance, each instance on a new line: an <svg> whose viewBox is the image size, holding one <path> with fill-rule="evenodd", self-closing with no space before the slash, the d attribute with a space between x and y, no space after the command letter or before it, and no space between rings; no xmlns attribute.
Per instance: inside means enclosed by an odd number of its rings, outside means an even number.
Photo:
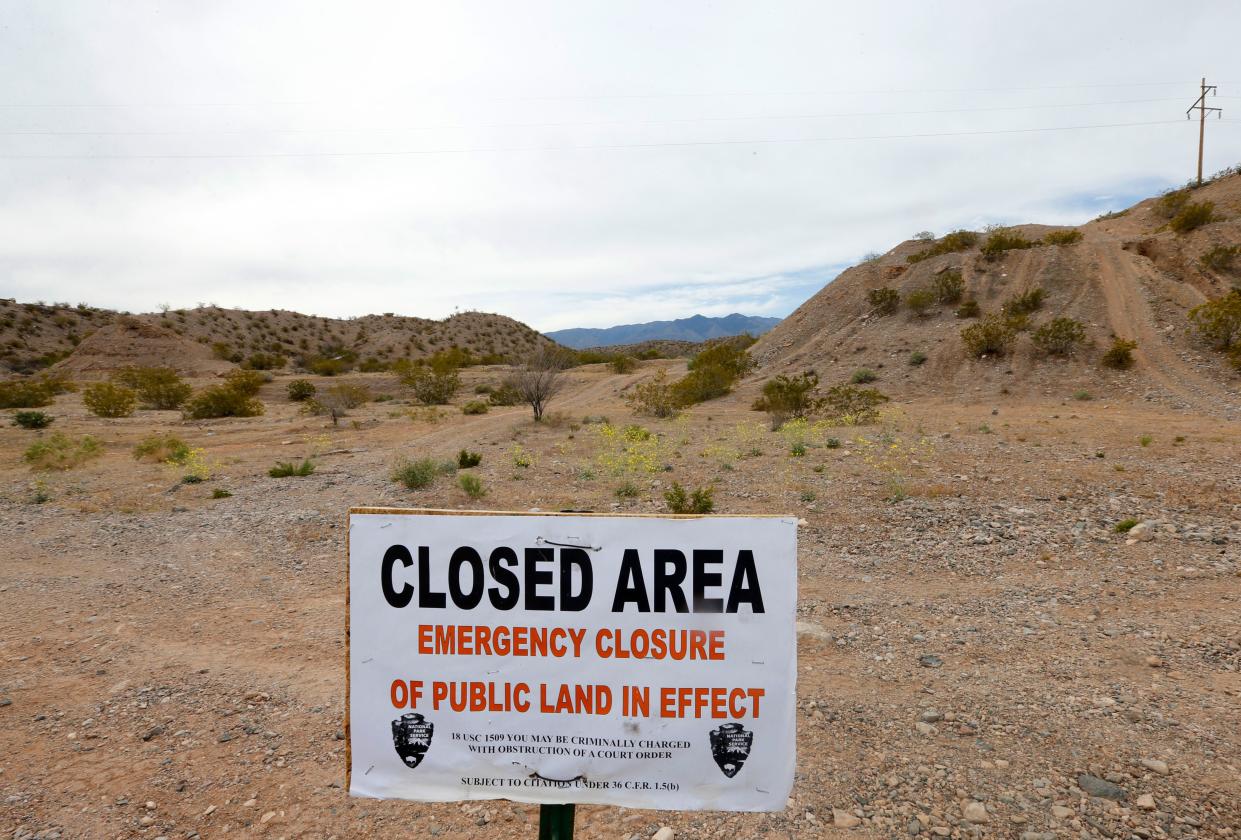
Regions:
<svg viewBox="0 0 1241 840"><path fill-rule="evenodd" d="M356 509L350 793L779 810L797 520Z"/></svg>

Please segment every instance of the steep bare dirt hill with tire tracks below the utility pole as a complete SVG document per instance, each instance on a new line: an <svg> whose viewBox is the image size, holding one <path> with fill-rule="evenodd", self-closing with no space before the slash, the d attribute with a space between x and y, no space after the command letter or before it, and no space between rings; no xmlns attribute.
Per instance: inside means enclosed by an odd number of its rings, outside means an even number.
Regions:
<svg viewBox="0 0 1241 840"><path fill-rule="evenodd" d="M1049 231L1076 230L1081 239L1004 251L995 259L980 251L988 233L978 235L964 251L922 259L917 257L937 242L902 242L841 273L762 336L752 350L759 362L755 381L813 369L834 385L865 367L879 373L882 390L911 396L1123 391L1181 407L1236 411L1237 377L1189 330L1188 311L1225 294L1241 277L1234 273L1241 259L1231 270L1200 263L1212 248L1241 243L1241 176L1189 191L1186 199L1212 201L1215 221L1179 235L1169 230L1167 202L1160 206L1159 199L1148 199L1077 228L1010 228L1040 242ZM1000 311L1016 295L1042 290L1042 305L1030 315L1029 330L1019 335L1010 355L970 357L961 330L973 320L958 318L957 304L936 304L925 316L908 310L906 297L947 272L961 273L963 298L975 300L983 314ZM872 289L885 287L902 300L890 315L879 314L869 302ZM1034 329L1057 316L1076 319L1086 329L1086 344L1069 359L1037 351L1030 339ZM1137 341L1133 369L1100 366L1113 337ZM911 364L915 354L923 354L926 362Z"/></svg>

